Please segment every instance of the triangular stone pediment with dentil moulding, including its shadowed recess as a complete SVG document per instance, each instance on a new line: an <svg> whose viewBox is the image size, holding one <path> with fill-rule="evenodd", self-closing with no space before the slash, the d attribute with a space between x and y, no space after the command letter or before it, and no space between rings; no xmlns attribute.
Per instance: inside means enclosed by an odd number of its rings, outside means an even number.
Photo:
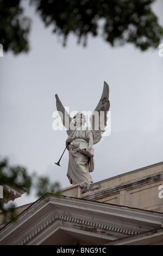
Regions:
<svg viewBox="0 0 163 256"><path fill-rule="evenodd" d="M46 194L1 230L0 245L104 244L161 228L162 217L159 212Z"/></svg>

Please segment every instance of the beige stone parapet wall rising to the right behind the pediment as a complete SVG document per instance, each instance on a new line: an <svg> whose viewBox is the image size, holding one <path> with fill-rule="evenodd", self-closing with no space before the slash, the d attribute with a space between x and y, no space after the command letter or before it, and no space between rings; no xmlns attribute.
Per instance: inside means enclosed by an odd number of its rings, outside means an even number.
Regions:
<svg viewBox="0 0 163 256"><path fill-rule="evenodd" d="M82 193L79 185L64 188L62 194L109 204L163 212L163 162L94 183L101 188ZM163 192L162 192L163 196Z"/></svg>

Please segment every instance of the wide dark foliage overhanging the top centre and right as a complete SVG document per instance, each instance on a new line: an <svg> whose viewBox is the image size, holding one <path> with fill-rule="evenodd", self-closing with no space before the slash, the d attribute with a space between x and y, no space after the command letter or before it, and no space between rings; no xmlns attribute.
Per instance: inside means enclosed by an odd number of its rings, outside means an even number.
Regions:
<svg viewBox="0 0 163 256"><path fill-rule="evenodd" d="M162 28L151 10L154 0L33 0L46 25L54 24L54 32L64 35L64 44L70 32L79 42L88 34L99 34L112 46L131 42L141 50L158 47Z"/></svg>

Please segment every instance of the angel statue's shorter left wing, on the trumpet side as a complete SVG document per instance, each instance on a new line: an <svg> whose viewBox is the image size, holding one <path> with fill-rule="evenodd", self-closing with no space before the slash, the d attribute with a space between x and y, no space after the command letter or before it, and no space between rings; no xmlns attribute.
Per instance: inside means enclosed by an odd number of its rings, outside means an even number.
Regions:
<svg viewBox="0 0 163 256"><path fill-rule="evenodd" d="M57 110L61 117L62 124L66 127L67 129L66 132L67 132L67 135L69 136L71 132L73 132L73 129L72 129L72 127L74 127L73 118L70 117L70 114L68 114L65 107L62 105L57 94L55 94L55 98L56 98Z"/></svg>

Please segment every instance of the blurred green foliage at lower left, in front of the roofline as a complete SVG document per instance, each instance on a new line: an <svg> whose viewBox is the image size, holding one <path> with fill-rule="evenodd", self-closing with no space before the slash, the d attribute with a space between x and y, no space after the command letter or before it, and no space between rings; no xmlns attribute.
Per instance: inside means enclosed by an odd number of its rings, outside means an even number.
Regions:
<svg viewBox="0 0 163 256"><path fill-rule="evenodd" d="M7 159L0 162L0 185L22 187L28 194L34 188L37 197L42 197L47 192L60 197L60 192L57 191L60 188L58 182L51 183L47 177L37 176L36 173L29 175L26 168L21 166L10 167ZM7 195L4 191L3 197L5 198L5 196ZM0 199L0 212L3 212L4 217L11 221L16 221L15 205L12 204L9 208L4 209L3 204L3 199Z"/></svg>

